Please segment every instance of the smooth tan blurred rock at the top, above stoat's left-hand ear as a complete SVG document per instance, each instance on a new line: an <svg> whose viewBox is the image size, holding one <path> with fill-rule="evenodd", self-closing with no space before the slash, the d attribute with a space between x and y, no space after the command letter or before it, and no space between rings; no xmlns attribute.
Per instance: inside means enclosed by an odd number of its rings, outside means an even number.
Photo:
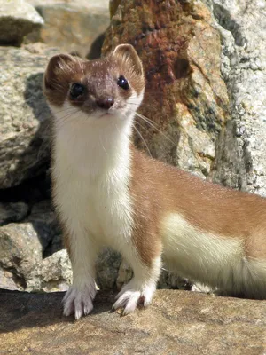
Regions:
<svg viewBox="0 0 266 355"><path fill-rule="evenodd" d="M109 25L106 1L36 2L36 9L45 20L43 28L28 36L61 51L77 52L94 59L100 56L104 33Z"/></svg>

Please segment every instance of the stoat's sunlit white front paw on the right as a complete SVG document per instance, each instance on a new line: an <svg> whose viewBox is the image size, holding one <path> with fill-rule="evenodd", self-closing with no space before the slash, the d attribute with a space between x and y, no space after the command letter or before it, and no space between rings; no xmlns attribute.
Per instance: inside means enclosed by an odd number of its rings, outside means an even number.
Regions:
<svg viewBox="0 0 266 355"><path fill-rule="evenodd" d="M154 291L155 286L152 282L144 287L137 287L134 280L131 280L115 297L117 301L113 304L113 310L123 308L123 315L126 315L134 312L137 305L147 307L152 302Z"/></svg>

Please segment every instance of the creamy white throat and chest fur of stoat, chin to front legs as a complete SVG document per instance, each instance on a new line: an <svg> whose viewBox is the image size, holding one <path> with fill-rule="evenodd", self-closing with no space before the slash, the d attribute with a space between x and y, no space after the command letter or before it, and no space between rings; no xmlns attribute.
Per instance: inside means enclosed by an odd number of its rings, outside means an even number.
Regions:
<svg viewBox="0 0 266 355"><path fill-rule="evenodd" d="M91 127L72 114L68 122L56 122L54 201L69 233L88 233L99 245L119 249L132 229L130 127L108 120Z"/></svg>

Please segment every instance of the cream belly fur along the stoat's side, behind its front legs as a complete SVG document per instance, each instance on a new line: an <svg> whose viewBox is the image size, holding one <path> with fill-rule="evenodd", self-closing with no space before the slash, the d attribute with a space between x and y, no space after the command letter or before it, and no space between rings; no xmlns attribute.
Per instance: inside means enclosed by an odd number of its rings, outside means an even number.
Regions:
<svg viewBox="0 0 266 355"><path fill-rule="evenodd" d="M266 296L266 263L246 259L242 241L201 232L171 213L162 221L168 268L231 294Z"/></svg>

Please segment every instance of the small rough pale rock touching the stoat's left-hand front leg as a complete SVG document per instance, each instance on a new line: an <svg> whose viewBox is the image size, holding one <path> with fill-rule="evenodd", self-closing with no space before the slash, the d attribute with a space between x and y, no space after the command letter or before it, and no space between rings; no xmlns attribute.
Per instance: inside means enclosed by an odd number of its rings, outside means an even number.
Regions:
<svg viewBox="0 0 266 355"><path fill-rule="evenodd" d="M66 291L72 282L72 270L66 249L43 259L27 281L27 291Z"/></svg>

